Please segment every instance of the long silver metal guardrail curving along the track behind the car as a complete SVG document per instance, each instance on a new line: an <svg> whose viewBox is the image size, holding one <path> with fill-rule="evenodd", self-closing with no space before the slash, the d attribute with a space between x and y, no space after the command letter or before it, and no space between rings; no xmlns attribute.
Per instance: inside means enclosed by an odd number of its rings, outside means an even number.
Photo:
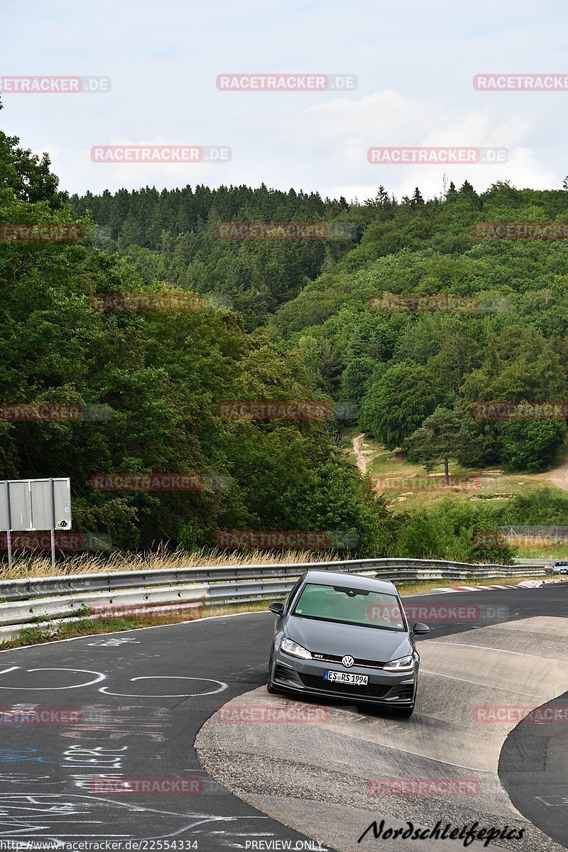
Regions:
<svg viewBox="0 0 568 852"><path fill-rule="evenodd" d="M235 565L187 567L99 574L74 574L0 581L0 641L19 636L22 630L54 630L63 623L96 619L104 614L129 611L159 612L160 606L175 609L192 602L220 603L261 601L286 595L307 569L342 570L371 574L393 582L419 580L468 580L472 578L543 576L543 567L525 565L472 565L424 559L357 559L335 562L298 562L287 565ZM166 607L168 608L168 607ZM169 607L171 609L171 607ZM77 612L80 611L80 615ZM90 613L87 614L87 613Z"/></svg>

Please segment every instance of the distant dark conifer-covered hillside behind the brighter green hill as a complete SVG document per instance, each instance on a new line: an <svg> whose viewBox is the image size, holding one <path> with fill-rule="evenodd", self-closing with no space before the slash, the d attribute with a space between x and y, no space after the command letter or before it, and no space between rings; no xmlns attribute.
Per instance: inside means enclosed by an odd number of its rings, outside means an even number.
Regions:
<svg viewBox="0 0 568 852"><path fill-rule="evenodd" d="M322 268L353 247L359 237L347 224L345 199L323 201L318 193L288 193L249 187L155 187L111 195L90 193L72 204L77 216L90 210L97 245L121 250L148 284L167 279L200 293L226 296L248 330L290 301ZM335 222L333 239L220 239L220 222Z"/></svg>

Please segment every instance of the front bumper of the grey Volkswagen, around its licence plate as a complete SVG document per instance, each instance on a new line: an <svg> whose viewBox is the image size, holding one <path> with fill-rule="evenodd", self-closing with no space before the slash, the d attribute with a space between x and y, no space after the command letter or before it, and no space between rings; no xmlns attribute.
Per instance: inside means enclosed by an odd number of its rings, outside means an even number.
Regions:
<svg viewBox="0 0 568 852"><path fill-rule="evenodd" d="M349 671L354 675L366 675L366 686L338 683L324 679L325 671ZM341 700L391 707L410 707L416 698L418 664L414 671L383 671L363 665L350 669L338 663L318 659L295 659L290 654L274 649L273 667L270 673L274 688L290 690L298 694L328 696Z"/></svg>

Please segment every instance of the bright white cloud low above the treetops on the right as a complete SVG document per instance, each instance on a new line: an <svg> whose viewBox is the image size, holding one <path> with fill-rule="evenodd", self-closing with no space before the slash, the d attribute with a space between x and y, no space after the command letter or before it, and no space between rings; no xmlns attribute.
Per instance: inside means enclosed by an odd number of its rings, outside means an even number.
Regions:
<svg viewBox="0 0 568 852"><path fill-rule="evenodd" d="M282 120L274 142L295 139L303 159L317 162L316 174L331 195L359 200L382 183L399 197L416 186L432 198L442 191L444 173L460 186L478 189L510 180L519 187L558 186L558 177L523 143L537 128L536 112L502 117L496 107L445 109L432 100L411 99L389 89L359 100L337 98ZM369 164L369 147L505 147L507 164Z"/></svg>

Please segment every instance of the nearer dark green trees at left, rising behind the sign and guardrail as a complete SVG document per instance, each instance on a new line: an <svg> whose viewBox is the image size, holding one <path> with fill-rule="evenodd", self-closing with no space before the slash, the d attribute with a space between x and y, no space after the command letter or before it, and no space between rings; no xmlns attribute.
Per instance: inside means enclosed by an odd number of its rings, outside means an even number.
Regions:
<svg viewBox="0 0 568 852"><path fill-rule="evenodd" d="M73 222L49 159L0 135L0 222ZM74 528L118 547L215 545L225 529L357 530L359 549L386 546L387 513L336 449L324 419L216 416L227 400L317 401L324 391L297 352L242 315L204 302L189 312L105 312L89 296L168 293L98 247L80 220L78 243L0 243L4 404L106 406L78 422L0 421L7 478L71 476ZM187 236L187 235L186 235ZM107 472L198 475L199 491L105 492Z"/></svg>

